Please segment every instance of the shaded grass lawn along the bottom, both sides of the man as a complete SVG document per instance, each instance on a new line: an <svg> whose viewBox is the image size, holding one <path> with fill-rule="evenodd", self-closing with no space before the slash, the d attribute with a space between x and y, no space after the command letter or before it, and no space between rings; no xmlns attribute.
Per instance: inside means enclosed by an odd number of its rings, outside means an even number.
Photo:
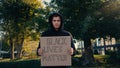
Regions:
<svg viewBox="0 0 120 68"><path fill-rule="evenodd" d="M119 68L119 63L115 64L108 64L106 62L107 55L94 55L95 60L99 61L99 63L90 66L81 66L80 63L81 55L76 55L73 58L73 66L71 68ZM6 66L7 65L7 66ZM10 59L1 59L0 60L0 68L40 68L40 58L27 58L24 57L20 60L13 60Z"/></svg>

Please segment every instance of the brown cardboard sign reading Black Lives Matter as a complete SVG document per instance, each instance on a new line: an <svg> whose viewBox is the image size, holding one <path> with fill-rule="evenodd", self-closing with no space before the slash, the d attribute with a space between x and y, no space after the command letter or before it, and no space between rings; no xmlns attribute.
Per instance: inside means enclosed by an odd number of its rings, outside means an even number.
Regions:
<svg viewBox="0 0 120 68"><path fill-rule="evenodd" d="M41 37L41 66L71 66L70 36Z"/></svg>

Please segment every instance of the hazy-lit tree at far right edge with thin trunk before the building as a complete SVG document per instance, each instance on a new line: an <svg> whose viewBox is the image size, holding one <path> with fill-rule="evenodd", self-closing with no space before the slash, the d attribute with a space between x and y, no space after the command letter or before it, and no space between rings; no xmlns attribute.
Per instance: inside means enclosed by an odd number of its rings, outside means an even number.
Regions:
<svg viewBox="0 0 120 68"><path fill-rule="evenodd" d="M99 34L99 37L104 38L114 37L116 40L120 38L120 2L118 0L109 0L105 1L101 8L99 9L99 15L97 15L97 24L96 32ZM101 28L103 27L103 28ZM104 41L104 50L106 51L105 41Z"/></svg>

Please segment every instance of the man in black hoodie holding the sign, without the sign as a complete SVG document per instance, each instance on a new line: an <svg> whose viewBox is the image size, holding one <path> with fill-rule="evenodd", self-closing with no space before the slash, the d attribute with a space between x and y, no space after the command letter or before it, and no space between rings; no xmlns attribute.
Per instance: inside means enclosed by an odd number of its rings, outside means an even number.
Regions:
<svg viewBox="0 0 120 68"><path fill-rule="evenodd" d="M52 37L52 36L71 36L71 48L68 49L69 55L74 55L75 46L72 41L72 35L70 32L63 30L63 19L59 13L53 13L49 17L49 24L51 29L42 33L41 37ZM42 49L40 48L40 43L37 48L37 55L42 55ZM66 66L57 66L57 67L45 67L45 68L68 68Z"/></svg>

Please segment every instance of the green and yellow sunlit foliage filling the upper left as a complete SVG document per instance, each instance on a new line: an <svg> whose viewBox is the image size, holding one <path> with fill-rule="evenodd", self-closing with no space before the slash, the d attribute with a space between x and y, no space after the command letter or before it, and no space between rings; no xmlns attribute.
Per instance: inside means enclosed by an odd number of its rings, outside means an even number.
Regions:
<svg viewBox="0 0 120 68"><path fill-rule="evenodd" d="M0 4L2 28L9 37L30 36L35 30L45 28L41 1L38 0L2 0ZM39 18L39 21L36 21ZM41 28L39 28L42 26Z"/></svg>

